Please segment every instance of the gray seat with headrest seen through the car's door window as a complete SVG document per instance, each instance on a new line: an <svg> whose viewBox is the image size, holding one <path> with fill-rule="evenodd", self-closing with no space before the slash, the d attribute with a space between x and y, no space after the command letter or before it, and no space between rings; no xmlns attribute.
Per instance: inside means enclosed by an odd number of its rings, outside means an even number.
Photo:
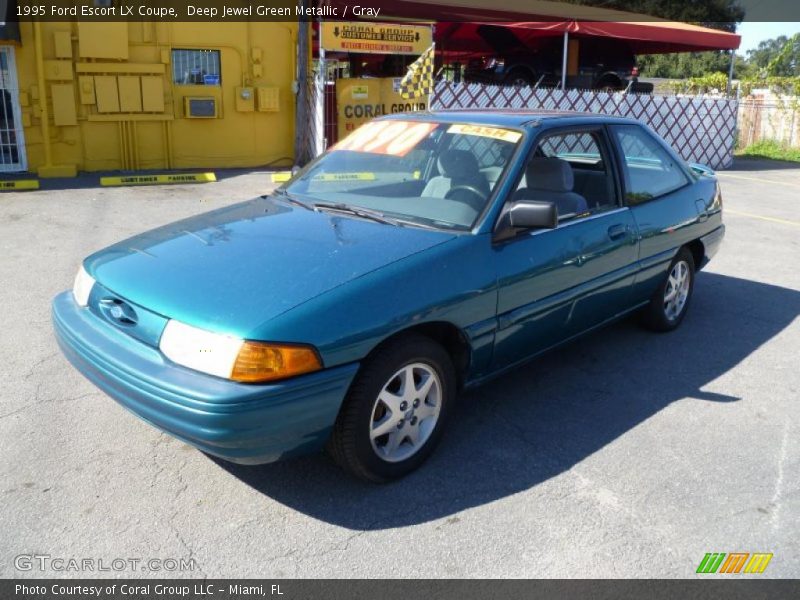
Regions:
<svg viewBox="0 0 800 600"><path fill-rule="evenodd" d="M527 187L514 193L514 200L553 202L559 217L589 210L586 199L572 191L575 181L570 164L553 157L535 156L525 169Z"/></svg>

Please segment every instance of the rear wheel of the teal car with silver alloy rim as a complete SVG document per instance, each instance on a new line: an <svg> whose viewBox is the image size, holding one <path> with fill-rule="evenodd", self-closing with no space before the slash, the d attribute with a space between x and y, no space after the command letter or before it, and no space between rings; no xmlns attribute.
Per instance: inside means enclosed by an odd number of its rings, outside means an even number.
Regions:
<svg viewBox="0 0 800 600"><path fill-rule="evenodd" d="M664 281L650 298L642 315L644 325L653 331L677 329L689 309L694 290L694 258L688 248L681 248L669 266Z"/></svg>

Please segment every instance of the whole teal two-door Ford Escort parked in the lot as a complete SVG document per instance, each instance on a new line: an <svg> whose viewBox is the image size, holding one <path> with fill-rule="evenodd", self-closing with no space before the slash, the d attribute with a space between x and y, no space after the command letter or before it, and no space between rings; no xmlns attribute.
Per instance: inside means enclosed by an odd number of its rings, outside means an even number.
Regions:
<svg viewBox="0 0 800 600"><path fill-rule="evenodd" d="M53 322L92 382L204 452L326 446L388 481L460 389L633 311L676 328L723 234L713 172L636 121L394 115L270 195L89 256Z"/></svg>

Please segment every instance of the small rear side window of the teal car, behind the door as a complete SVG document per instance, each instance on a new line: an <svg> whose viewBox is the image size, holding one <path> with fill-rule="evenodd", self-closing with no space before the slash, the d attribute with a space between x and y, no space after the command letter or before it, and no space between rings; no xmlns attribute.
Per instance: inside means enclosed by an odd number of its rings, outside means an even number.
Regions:
<svg viewBox="0 0 800 600"><path fill-rule="evenodd" d="M689 181L675 159L638 125L614 128L625 159L625 200L635 205L663 196Z"/></svg>

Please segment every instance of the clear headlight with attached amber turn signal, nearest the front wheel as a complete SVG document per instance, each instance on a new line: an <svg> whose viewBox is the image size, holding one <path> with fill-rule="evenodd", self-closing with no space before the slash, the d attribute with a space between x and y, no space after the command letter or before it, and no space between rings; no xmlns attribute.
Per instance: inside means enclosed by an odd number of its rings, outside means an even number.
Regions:
<svg viewBox="0 0 800 600"><path fill-rule="evenodd" d="M322 368L317 352L309 346L253 342L174 319L164 328L159 348L174 363L246 383L285 379Z"/></svg>

